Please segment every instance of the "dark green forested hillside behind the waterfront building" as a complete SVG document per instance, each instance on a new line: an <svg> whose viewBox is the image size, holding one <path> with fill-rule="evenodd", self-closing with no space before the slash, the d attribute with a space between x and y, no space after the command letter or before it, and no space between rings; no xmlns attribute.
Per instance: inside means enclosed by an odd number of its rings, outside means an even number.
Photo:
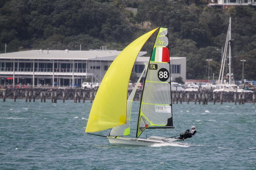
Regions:
<svg viewBox="0 0 256 170"><path fill-rule="evenodd" d="M135 2L135 3L134 3ZM30 49L122 50L135 38L157 26L169 28L173 57L187 57L187 78L207 78L210 63L219 74L232 18L236 79L256 79L256 9L236 6L226 10L207 7L207 0L1 0L0 53ZM126 7L137 8L137 12ZM143 50L151 52L153 39ZM151 42L151 44L150 44ZM149 55L149 54L148 54Z"/></svg>

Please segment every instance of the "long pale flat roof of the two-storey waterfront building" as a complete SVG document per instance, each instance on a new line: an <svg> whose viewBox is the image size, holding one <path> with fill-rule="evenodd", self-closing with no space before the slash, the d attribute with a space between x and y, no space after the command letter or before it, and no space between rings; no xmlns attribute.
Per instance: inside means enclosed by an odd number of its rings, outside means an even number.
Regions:
<svg viewBox="0 0 256 170"><path fill-rule="evenodd" d="M116 50L29 50L0 54L0 59L95 60L97 57L100 58L99 60L113 61L119 53L121 53L121 51ZM145 54L147 54L147 52L141 51L138 56Z"/></svg>

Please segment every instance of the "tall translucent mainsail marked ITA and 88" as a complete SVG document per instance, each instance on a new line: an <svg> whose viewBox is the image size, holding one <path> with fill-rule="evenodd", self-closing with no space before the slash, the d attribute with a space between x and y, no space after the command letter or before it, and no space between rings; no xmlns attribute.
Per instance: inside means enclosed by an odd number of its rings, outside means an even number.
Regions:
<svg viewBox="0 0 256 170"><path fill-rule="evenodd" d="M173 128L167 28L160 28L145 78L137 135L146 128Z"/></svg>

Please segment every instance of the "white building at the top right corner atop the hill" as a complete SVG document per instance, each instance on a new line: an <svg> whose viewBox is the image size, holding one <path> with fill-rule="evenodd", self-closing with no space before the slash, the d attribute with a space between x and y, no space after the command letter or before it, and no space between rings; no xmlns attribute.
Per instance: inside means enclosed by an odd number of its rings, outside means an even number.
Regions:
<svg viewBox="0 0 256 170"><path fill-rule="evenodd" d="M222 9L230 5L256 5L256 0L211 0L208 6L216 6Z"/></svg>

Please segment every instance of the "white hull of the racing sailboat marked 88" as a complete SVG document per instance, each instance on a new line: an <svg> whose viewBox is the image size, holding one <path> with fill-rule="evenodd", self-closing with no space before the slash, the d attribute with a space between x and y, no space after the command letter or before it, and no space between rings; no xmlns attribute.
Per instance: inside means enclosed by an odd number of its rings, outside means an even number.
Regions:
<svg viewBox="0 0 256 170"><path fill-rule="evenodd" d="M165 138L152 136L147 139L126 138L126 137L107 137L110 144L127 145L127 146L151 146L152 144L171 143L175 138Z"/></svg>

